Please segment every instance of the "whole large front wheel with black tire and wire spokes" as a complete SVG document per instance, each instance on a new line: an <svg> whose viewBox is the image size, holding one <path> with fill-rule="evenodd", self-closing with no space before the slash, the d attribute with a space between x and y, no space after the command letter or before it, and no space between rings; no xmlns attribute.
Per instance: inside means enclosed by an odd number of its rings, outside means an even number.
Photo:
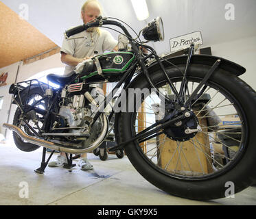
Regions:
<svg viewBox="0 0 256 219"><path fill-rule="evenodd" d="M190 66L185 101L207 70L207 66ZM168 75L179 91L181 71L170 68ZM136 112L121 114L121 142L161 118L175 118L181 109L163 74L156 72L152 79L171 101L163 103L155 93L143 93ZM133 86L149 88L142 78ZM190 120L127 144L126 154L143 177L170 194L198 200L221 198L228 182L233 183L234 192L240 192L256 176L255 92L234 75L218 70L198 94L189 105ZM200 131L195 131L198 125Z"/></svg>

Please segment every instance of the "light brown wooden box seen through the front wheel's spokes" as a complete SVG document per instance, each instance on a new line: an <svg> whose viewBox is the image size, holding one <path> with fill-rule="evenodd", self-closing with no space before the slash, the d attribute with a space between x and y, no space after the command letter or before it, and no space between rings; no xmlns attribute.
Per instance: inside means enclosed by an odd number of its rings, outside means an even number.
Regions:
<svg viewBox="0 0 256 219"><path fill-rule="evenodd" d="M202 175L202 173L213 172L209 137L205 134L207 128L204 128L207 127L207 120L201 118L199 123L202 132L197 133L189 141L176 142L170 138L165 138L165 135L157 138L157 144L159 145L157 152L158 165L161 168L168 172L184 175Z"/></svg>

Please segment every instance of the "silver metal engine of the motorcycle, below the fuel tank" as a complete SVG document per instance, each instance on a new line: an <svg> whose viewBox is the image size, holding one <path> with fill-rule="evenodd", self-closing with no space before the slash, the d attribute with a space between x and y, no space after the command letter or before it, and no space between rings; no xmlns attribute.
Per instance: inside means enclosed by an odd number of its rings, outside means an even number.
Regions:
<svg viewBox="0 0 256 219"><path fill-rule="evenodd" d="M62 89L59 115L65 118L67 124L65 133L73 133L72 138L89 140L87 143L90 144L100 135L103 124L99 118L91 127L93 112L97 106L86 99L85 92L94 93L93 98L97 103L104 99L104 92L99 86L85 86L84 83L71 84ZM100 99L99 96L101 96Z"/></svg>

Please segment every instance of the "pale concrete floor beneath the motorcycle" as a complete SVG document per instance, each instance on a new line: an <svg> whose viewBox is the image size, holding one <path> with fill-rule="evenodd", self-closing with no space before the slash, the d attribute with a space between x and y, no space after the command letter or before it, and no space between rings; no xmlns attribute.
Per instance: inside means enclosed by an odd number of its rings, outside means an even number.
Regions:
<svg viewBox="0 0 256 219"><path fill-rule="evenodd" d="M25 153L12 143L0 144L0 205L256 205L255 186L235 198L214 201L171 196L143 179L126 156L109 155L103 162L89 153L94 170L47 167L39 175L34 170L40 166L42 151ZM28 185L28 198L19 196L24 188L21 182Z"/></svg>

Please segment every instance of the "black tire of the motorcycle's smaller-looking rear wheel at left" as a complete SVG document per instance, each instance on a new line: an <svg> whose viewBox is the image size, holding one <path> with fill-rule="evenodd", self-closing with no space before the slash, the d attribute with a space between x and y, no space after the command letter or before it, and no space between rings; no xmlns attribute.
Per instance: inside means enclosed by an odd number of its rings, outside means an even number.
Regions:
<svg viewBox="0 0 256 219"><path fill-rule="evenodd" d="M30 101L32 101L32 99L36 96L36 98L43 98L43 91L38 88L38 87L33 87L30 90L30 94L28 95L28 103ZM25 96L21 95L22 99L25 99ZM29 112L30 115L33 114L33 116L36 116L38 118L38 115L34 112L34 111L30 111ZM29 116L30 116L29 115ZM32 131L30 131L30 129L27 127L27 125L25 125L25 123L21 123L20 120L20 116L21 116L21 110L19 109L19 107L16 108L16 112L14 114L14 119L13 119L13 125L16 125L17 127L20 127L21 129L23 129L23 131L25 131L25 133L27 133L27 135L29 136L35 136L34 133L32 133ZM29 119L29 123L31 122L31 120ZM40 146L36 145L36 144L31 144L29 142L24 142L16 132L12 132L13 138L14 138L14 143L16 145L16 147L18 149L20 149L21 151L25 151L25 152L31 152L31 151L35 151L36 149L39 149Z"/></svg>

